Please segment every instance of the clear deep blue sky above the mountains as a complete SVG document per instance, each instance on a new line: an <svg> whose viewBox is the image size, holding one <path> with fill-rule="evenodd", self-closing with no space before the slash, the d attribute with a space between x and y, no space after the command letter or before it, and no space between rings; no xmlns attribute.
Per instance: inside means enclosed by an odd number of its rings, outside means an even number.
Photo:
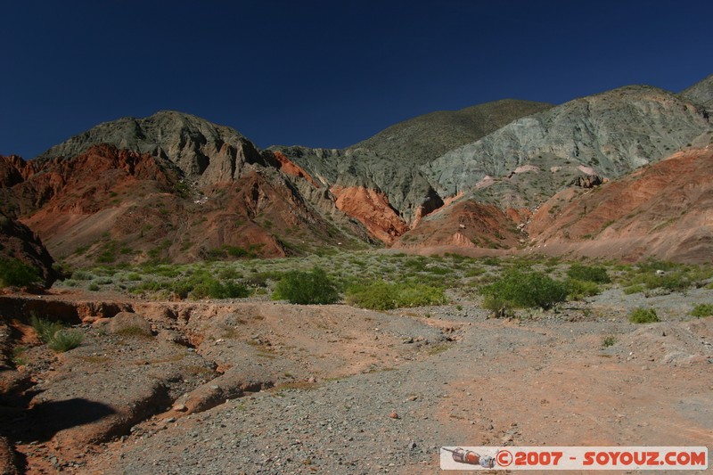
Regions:
<svg viewBox="0 0 713 475"><path fill-rule="evenodd" d="M710 0L17 0L0 18L0 154L26 159L164 109L340 148L430 111L713 73Z"/></svg>

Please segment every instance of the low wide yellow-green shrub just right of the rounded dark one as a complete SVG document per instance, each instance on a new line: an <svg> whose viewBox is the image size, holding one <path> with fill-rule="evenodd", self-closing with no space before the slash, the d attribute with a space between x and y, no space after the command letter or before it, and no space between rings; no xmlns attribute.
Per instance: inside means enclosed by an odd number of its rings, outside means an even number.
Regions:
<svg viewBox="0 0 713 475"><path fill-rule="evenodd" d="M390 310L402 307L423 307L447 302L440 287L422 283L373 283L356 284L348 288L345 297L348 305L372 310Z"/></svg>

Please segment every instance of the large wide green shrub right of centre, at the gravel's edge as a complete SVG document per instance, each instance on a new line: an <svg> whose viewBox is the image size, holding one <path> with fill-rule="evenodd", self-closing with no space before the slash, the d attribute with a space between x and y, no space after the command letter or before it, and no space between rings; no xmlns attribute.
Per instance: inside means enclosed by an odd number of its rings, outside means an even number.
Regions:
<svg viewBox="0 0 713 475"><path fill-rule="evenodd" d="M495 283L481 288L480 293L511 307L540 307L545 310L567 298L564 283L539 272L525 274L511 271Z"/></svg>

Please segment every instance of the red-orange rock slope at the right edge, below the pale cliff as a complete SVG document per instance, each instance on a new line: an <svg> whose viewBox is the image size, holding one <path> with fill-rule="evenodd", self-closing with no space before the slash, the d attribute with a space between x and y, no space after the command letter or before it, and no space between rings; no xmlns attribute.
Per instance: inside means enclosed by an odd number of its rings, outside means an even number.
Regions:
<svg viewBox="0 0 713 475"><path fill-rule="evenodd" d="M548 250L709 262L711 163L713 149L692 149L592 190L565 190L539 209L528 232Z"/></svg>

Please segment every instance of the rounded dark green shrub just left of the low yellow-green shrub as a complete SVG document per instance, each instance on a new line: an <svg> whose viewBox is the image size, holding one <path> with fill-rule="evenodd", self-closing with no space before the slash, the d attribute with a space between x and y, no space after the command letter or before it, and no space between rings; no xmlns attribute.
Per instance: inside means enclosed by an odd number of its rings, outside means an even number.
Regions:
<svg viewBox="0 0 713 475"><path fill-rule="evenodd" d="M320 267L310 272L291 271L275 285L273 299L293 304L333 304L340 298L337 285Z"/></svg>

